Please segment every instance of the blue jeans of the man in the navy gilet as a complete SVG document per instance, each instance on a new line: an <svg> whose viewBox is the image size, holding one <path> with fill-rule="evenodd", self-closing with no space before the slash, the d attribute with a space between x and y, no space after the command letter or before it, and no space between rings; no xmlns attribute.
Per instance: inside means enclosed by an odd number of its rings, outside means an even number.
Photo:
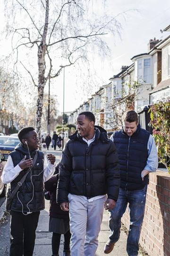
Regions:
<svg viewBox="0 0 170 256"><path fill-rule="evenodd" d="M129 203L130 226L127 237L128 256L137 256L139 237L144 219L147 185L139 190L119 190L119 198L113 210L109 211L110 242L116 243L120 237L121 217Z"/></svg>

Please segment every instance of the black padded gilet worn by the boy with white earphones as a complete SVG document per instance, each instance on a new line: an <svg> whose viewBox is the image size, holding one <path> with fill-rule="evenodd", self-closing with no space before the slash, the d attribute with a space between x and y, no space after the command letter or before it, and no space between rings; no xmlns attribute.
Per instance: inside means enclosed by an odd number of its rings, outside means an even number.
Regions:
<svg viewBox="0 0 170 256"><path fill-rule="evenodd" d="M36 150L30 152L32 158L34 158L35 153L36 153ZM20 161L24 158L25 155L26 155L26 159L29 159L28 150L26 150L22 146L22 143L18 144L15 150L12 151L9 155L12 157L14 167L20 163ZM28 212L29 209L30 211L35 212L35 211L43 210L45 208L44 191L43 191L43 163L44 163L44 154L42 151L38 151L37 160L32 171L30 171L27 174L26 180L24 181L22 186L19 188L18 192L15 194L12 200L11 210L22 212L22 204L23 204L24 212ZM10 183L11 191L15 189L15 187L17 186L17 183L26 174L27 170L28 169L22 170L18 174L18 176ZM32 174L32 179L31 179L31 174ZM33 185L34 185L34 197L33 197ZM18 200L18 198L22 202L22 204ZM27 204L28 204L28 207L27 207Z"/></svg>

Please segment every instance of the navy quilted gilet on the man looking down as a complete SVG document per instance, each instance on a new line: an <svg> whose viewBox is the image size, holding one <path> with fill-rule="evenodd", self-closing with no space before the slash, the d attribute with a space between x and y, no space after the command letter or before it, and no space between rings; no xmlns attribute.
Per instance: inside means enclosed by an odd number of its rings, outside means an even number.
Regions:
<svg viewBox="0 0 170 256"><path fill-rule="evenodd" d="M120 187L127 190L143 188L149 183L149 175L141 177L148 158L147 144L150 132L137 126L129 137L123 128L114 132L113 141L117 148L120 164Z"/></svg>

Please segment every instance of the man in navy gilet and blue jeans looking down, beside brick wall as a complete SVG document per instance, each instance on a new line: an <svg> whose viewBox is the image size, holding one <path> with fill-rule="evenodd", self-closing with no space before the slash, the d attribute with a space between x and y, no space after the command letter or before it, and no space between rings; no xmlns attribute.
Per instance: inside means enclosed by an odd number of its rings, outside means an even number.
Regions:
<svg viewBox="0 0 170 256"><path fill-rule="evenodd" d="M104 247L109 254L119 240L121 217L129 203L130 227L127 238L128 256L137 256L139 237L144 219L149 173L158 167L158 155L152 135L138 124L134 110L122 116L123 127L110 137L114 142L120 164L120 190L115 207L109 211L110 237Z"/></svg>

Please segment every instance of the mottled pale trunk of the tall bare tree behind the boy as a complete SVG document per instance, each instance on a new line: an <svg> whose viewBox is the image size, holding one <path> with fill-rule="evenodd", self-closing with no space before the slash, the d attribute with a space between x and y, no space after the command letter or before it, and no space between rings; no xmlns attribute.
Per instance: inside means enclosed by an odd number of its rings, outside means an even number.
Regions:
<svg viewBox="0 0 170 256"><path fill-rule="evenodd" d="M46 12L45 12L45 26L42 35L42 41L38 47L38 100L36 111L36 131L38 137L41 138L41 118L43 107L43 93L44 86L46 84L45 73L45 53L46 53L46 36L48 30L48 18L49 18L49 0L46 0Z"/></svg>

